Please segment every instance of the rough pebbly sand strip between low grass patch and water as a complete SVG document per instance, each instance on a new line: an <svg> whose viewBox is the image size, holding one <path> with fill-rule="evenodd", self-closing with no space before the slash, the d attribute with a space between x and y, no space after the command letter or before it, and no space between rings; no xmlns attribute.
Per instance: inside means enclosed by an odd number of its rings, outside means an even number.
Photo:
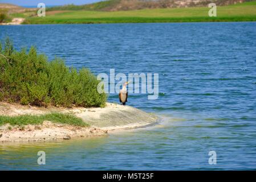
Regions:
<svg viewBox="0 0 256 182"><path fill-rule="evenodd" d="M95 127L78 127L44 121L42 125L24 127L5 125L0 129L0 142L33 142L103 135L107 135L107 131Z"/></svg>

